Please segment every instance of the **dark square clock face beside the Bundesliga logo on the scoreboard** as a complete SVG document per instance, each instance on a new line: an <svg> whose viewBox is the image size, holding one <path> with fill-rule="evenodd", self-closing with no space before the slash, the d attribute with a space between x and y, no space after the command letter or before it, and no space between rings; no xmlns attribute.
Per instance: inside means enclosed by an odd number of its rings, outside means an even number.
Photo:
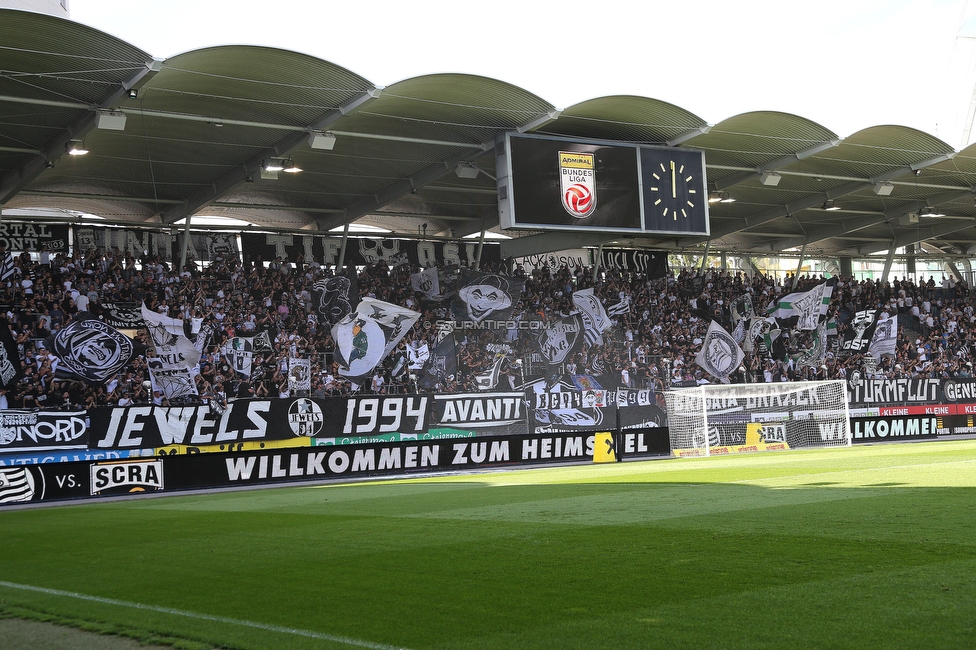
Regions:
<svg viewBox="0 0 976 650"><path fill-rule="evenodd" d="M660 149L641 153L646 229L707 232L702 154Z"/></svg>

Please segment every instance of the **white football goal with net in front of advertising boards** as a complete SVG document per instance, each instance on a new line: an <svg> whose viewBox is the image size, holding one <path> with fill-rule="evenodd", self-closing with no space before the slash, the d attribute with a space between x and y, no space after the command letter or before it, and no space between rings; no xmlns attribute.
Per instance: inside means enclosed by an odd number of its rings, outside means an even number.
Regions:
<svg viewBox="0 0 976 650"><path fill-rule="evenodd" d="M851 444L843 381L709 384L665 400L676 456Z"/></svg>

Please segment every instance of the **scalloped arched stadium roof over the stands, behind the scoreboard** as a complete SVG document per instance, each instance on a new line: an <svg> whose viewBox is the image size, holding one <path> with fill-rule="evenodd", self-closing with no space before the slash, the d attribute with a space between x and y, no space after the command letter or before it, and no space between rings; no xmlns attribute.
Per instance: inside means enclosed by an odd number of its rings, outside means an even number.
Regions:
<svg viewBox="0 0 976 650"><path fill-rule="evenodd" d="M377 88L327 61L266 47L160 60L80 23L0 9L4 218L84 213L158 227L213 215L308 234L355 223L457 238L498 230L494 142L506 131L704 150L709 189L735 199L710 206L712 253L857 257L922 242L939 256L976 252L976 145L955 151L915 129L841 138L775 111L707 124L634 96L559 110L511 84L460 74ZM335 137L332 149L310 146L320 132ZM90 153L67 155L72 142ZM262 178L272 158L303 171ZM460 178L459 163L480 172ZM706 245L506 234L516 239L505 255L611 241Z"/></svg>

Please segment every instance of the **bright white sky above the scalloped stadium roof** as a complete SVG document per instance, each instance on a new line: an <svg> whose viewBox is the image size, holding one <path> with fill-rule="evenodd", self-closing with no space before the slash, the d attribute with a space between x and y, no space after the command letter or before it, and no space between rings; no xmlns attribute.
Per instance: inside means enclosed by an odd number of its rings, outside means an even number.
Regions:
<svg viewBox="0 0 976 650"><path fill-rule="evenodd" d="M476 74L558 108L640 95L709 124L781 111L841 137L898 124L956 149L976 88L976 0L70 0L69 9L159 58L265 45L378 86Z"/></svg>

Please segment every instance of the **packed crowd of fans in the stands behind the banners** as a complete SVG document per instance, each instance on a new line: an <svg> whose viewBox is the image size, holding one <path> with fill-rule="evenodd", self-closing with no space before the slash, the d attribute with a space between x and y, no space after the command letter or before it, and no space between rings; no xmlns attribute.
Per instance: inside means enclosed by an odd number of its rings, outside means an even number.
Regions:
<svg viewBox="0 0 976 650"><path fill-rule="evenodd" d="M98 315L103 303L145 303L171 317L200 319L214 327L203 351L195 381L201 399L224 402L248 397L288 396L289 357L312 361L313 397L362 392L412 392L418 389L417 369L394 372L396 353L363 386L343 378L333 358L334 343L328 323L315 313L312 287L334 269L302 260L270 263L245 257L217 261L200 268L189 264L182 272L165 261L136 260L118 251L75 252L73 255L41 251L15 258L13 275L0 285L0 300L8 305L7 321L17 343L23 379L11 390L0 391L0 408L76 409L106 405L166 404L152 390L147 359L153 355L145 331L131 332L135 354L127 367L103 386L58 379L58 359L45 340L80 312ZM503 268L504 267L504 268ZM407 347L433 347L431 323L446 316L448 301L428 300L411 288L410 275L419 269L385 264L359 270L361 296L409 307L422 313L400 343ZM626 313L613 317L603 345L584 345L565 361L567 375L589 375L605 388L664 389L716 381L695 363L712 320L731 330L729 306L750 294L755 310L793 291L810 289L822 277L776 279L741 272L706 269L703 276L689 270L665 278L603 271L594 279L592 269L536 268L502 263L482 269L524 278L521 300L513 320L547 320L574 311L574 291L590 288L605 305L623 303ZM696 275L698 278L696 279ZM446 278L449 280L449 278ZM864 355L843 354L837 343L856 311L883 309L898 318L897 353L877 364ZM783 331L785 355L779 359L746 354L733 382L852 379L861 377L969 377L976 344L976 314L969 287L953 278L936 283L930 277L895 278L888 282L838 279L828 317L838 324L838 336L819 365L799 367L796 357L811 345L811 333ZM250 377L240 377L221 354L223 341L267 331L271 350L258 355ZM457 372L441 377L438 392L478 390L475 376L488 369L494 353L490 343L507 343L513 354L502 364L500 390L512 390L545 374L535 353L531 330L476 330L458 333ZM518 361L516 361L518 360Z"/></svg>

